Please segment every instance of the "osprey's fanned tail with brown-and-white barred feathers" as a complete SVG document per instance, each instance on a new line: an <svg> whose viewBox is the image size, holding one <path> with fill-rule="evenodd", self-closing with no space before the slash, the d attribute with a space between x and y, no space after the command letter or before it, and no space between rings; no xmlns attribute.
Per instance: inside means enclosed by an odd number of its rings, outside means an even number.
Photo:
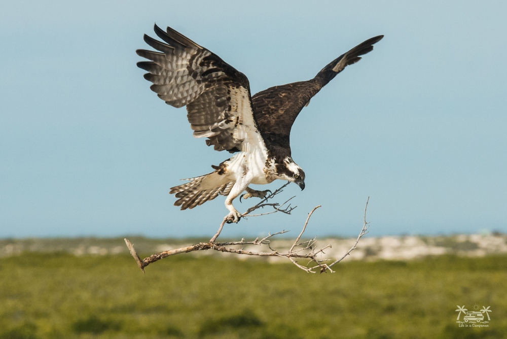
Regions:
<svg viewBox="0 0 507 339"><path fill-rule="evenodd" d="M171 187L170 194L178 198L174 206L181 206L182 210L193 209L219 194L228 195L235 181L229 181L220 171L214 171L204 176L183 179L189 180L183 185Z"/></svg>

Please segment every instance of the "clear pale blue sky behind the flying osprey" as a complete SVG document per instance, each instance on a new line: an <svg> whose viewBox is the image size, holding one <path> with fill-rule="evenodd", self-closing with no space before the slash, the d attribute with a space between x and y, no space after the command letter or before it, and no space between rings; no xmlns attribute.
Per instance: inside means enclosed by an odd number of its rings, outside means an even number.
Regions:
<svg viewBox="0 0 507 339"><path fill-rule="evenodd" d="M296 231L316 205L308 235L353 235L368 196L372 235L507 232L505 17L499 1L5 4L0 237L213 234L223 197L179 211L168 191L229 155L193 139L185 109L135 66L154 22L245 73L252 93L385 35L296 120L306 189L281 197L297 195L293 215L225 235Z"/></svg>

